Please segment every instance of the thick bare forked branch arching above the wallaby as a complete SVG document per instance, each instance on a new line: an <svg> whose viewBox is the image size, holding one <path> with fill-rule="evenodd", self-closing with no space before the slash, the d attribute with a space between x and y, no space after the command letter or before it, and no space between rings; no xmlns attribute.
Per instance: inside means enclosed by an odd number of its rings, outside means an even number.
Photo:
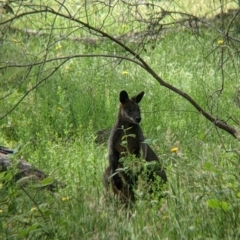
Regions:
<svg viewBox="0 0 240 240"><path fill-rule="evenodd" d="M62 6L62 5L61 5ZM43 78L40 82L38 82L33 88L31 88L30 90L28 90L26 92L26 94L20 99L20 101L10 110L8 111L4 116L6 116L7 114L9 114L11 111L13 111L17 105L26 97L26 95L29 94L29 92L31 92L32 90L36 89L43 81L45 81L47 78L49 78L51 75L54 74L54 72L56 72L56 70L62 65L64 64L66 61L68 61L71 58L81 58L81 57L107 57L107 58L118 58L121 60L127 60L127 61L131 61L137 65L139 65L140 67L142 67L144 70L146 70L156 81L158 81L158 83L173 91L174 93L180 95L181 97L183 97L184 99L186 99L188 102L191 103L191 105L197 109L197 111L202 114L206 119L208 119L212 124L214 124L216 127L223 129L224 131L230 133L233 137L238 138L238 132L236 129L234 129L233 127L227 125L224 121L221 121L215 117L213 117L211 114L209 114L208 112L206 112L190 95L188 95L187 93L181 91L180 89L176 88L175 86L167 83L166 81L164 81L149 65L148 63L139 55L138 52L134 51L133 49L131 49L130 47L128 47L126 44L124 44L123 42L121 42L121 40L117 39L116 37L112 36L111 34L105 32L104 30L102 30L101 27L97 28L92 26L91 24L89 24L88 22L84 22L79 18L76 18L74 16L72 16L70 14L70 12L68 11L68 15L60 12L60 11L55 11L54 9L46 6L46 7L42 7L40 10L39 9L35 9L34 11L28 11L28 12L23 12L20 13L18 15L15 15L14 17L0 22L0 25L4 25L7 23L11 23L13 21L16 21L17 19L20 19L22 17L28 16L28 15L36 15L36 14L42 14L42 13L49 13L52 14L53 16L58 16L60 18L69 20L71 22L77 23L80 26L83 26L85 29L87 29L91 34L96 34L98 36L102 36L103 38L106 38L108 40L110 40L111 42L115 43L116 45L118 45L119 47L121 47L123 49L123 52L130 54L130 56L132 56L132 58L130 57L125 57L125 56L120 56L120 55L104 55L104 54L100 54L100 55L93 55L93 54L89 54L89 55L74 55L74 56L68 56L68 57L58 57L57 60L64 60L57 68L55 68L51 74L49 74L46 78ZM167 12L166 12L167 13ZM172 13L171 13L172 14ZM179 14L179 13L178 13ZM187 14L185 14L187 15ZM190 16L193 17L193 16ZM198 20L198 18L194 18L194 20ZM229 37L229 35L228 35ZM44 58L43 61L41 62L36 62L36 63L32 63L31 65L39 65L39 64L45 64L47 62L51 62L54 61L56 59L47 59ZM14 66L19 66L19 67L26 67L27 65L11 65L11 64L7 64L5 65L3 68L8 68L8 67L14 67ZM223 87L223 86L222 86ZM2 116L2 118L4 117Z"/></svg>

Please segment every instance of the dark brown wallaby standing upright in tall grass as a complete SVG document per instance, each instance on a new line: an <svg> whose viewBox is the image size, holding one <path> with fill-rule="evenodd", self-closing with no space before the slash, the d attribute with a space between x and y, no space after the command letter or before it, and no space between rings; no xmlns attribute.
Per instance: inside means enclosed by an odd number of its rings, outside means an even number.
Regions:
<svg viewBox="0 0 240 240"><path fill-rule="evenodd" d="M118 168L122 168L123 164L119 159L127 154L133 154L137 158L142 157L146 161L159 161L157 155L144 142L144 136L139 123L141 121L141 113L138 103L142 100L144 92L129 98L126 91L121 91L119 95L120 108L117 121L111 131L109 138L109 167L104 173L104 184L108 186L108 179L111 177L111 185L115 194L120 194L122 199L127 201L134 200L132 190L133 182L136 182L137 176L129 177L122 171L116 172ZM122 142L126 141L126 146ZM142 155L142 156L141 156ZM160 168L155 172L160 176L162 182L167 181L164 169ZM149 175L150 181L153 180L154 174Z"/></svg>

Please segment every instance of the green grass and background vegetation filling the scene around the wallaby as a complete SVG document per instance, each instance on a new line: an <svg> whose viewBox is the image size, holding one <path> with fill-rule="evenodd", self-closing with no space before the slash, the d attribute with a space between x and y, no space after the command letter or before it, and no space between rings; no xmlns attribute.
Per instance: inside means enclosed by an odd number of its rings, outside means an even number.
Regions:
<svg viewBox="0 0 240 240"><path fill-rule="evenodd" d="M239 141L89 27L238 130L239 24L237 1L3 2L0 145L21 147L13 158L66 188L19 188L0 174L0 238L239 239ZM141 126L167 168L164 203L126 210L104 198L107 146L94 140L123 89L145 91Z"/></svg>

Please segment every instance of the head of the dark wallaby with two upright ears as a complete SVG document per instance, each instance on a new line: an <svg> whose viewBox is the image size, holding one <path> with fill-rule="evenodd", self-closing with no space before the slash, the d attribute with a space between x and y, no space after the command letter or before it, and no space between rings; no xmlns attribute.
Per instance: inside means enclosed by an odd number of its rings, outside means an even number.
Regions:
<svg viewBox="0 0 240 240"><path fill-rule="evenodd" d="M121 91L119 95L120 111L119 118L125 122L139 124L141 121L141 112L138 103L142 100L144 92L140 92L136 96L129 98L126 91Z"/></svg>

